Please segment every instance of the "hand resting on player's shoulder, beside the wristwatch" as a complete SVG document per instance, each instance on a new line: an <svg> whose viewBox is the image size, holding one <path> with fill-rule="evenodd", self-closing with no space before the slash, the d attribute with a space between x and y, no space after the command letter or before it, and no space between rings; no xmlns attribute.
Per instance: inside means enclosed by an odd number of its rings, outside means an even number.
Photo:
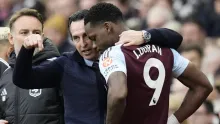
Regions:
<svg viewBox="0 0 220 124"><path fill-rule="evenodd" d="M141 45L144 38L142 31L128 30L119 35L120 39L115 45L124 44L124 46Z"/></svg>

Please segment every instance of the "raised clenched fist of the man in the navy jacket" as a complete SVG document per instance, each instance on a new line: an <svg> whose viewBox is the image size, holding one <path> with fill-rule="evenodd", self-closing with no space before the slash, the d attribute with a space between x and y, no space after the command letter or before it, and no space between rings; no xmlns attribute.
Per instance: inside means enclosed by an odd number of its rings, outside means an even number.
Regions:
<svg viewBox="0 0 220 124"><path fill-rule="evenodd" d="M43 38L39 34L31 34L24 39L23 43L26 49L38 48L40 51L43 50Z"/></svg>

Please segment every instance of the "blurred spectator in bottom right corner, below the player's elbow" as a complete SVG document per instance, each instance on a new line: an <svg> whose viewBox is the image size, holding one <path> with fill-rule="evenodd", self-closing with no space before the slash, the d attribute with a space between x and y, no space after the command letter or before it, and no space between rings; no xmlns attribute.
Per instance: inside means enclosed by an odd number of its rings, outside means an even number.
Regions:
<svg viewBox="0 0 220 124"><path fill-rule="evenodd" d="M210 101L205 101L188 120L189 124L219 124Z"/></svg>

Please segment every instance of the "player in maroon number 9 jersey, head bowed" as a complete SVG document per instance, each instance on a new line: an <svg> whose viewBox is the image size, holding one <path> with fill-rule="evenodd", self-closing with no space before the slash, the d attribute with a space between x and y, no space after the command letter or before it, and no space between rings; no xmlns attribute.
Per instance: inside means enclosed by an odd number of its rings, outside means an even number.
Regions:
<svg viewBox="0 0 220 124"><path fill-rule="evenodd" d="M89 38L104 51L99 67L108 84L106 124L179 124L212 91L206 76L173 49L150 44L114 46L128 29L114 5L99 3L91 7L84 24ZM189 91L181 107L168 119L173 76Z"/></svg>

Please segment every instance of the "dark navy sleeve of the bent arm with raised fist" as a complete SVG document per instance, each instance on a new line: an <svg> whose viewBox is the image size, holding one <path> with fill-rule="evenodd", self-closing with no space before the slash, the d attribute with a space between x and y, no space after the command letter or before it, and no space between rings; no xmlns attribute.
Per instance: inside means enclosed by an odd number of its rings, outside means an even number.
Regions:
<svg viewBox="0 0 220 124"><path fill-rule="evenodd" d="M39 89L58 87L63 70L54 61L32 66L32 56L34 49L27 50L22 46L16 60L13 83L23 89Z"/></svg>

